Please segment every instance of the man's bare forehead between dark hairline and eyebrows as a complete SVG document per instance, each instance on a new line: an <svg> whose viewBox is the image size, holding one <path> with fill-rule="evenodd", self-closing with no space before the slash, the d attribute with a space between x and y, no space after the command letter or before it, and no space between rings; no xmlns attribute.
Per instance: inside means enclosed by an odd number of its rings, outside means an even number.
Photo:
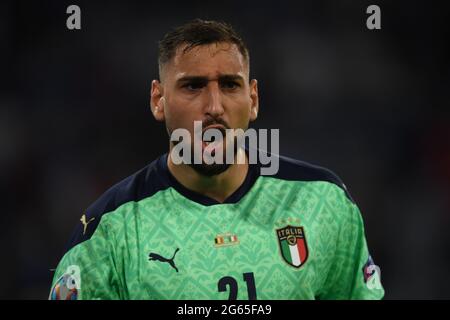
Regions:
<svg viewBox="0 0 450 320"><path fill-rule="evenodd" d="M235 44L213 43L185 50L179 47L168 64L175 80L187 76L217 78L221 75L248 74L248 65Z"/></svg>

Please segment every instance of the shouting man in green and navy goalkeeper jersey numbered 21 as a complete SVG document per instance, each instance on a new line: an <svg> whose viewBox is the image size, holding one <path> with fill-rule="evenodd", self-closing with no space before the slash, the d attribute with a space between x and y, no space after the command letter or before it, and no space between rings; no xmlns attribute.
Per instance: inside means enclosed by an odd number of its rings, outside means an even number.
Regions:
<svg viewBox="0 0 450 320"><path fill-rule="evenodd" d="M248 50L229 25L178 27L160 42L153 116L170 136L187 130L189 145L205 152L210 144L195 135L195 121L203 133L226 133L257 118L249 68ZM226 133L210 154L239 154L230 141ZM361 214L332 172L279 157L278 172L263 176L249 150L240 164L208 164L203 156L176 164L176 145L83 214L51 299L383 297Z"/></svg>

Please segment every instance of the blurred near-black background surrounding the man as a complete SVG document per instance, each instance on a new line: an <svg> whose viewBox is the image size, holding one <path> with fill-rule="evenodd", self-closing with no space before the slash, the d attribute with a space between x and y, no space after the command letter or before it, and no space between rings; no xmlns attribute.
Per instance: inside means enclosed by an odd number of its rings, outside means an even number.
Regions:
<svg viewBox="0 0 450 320"><path fill-rule="evenodd" d="M82 29L66 28L81 7ZM366 28L381 7L382 29ZM450 298L449 14L410 1L2 1L0 298L46 299L83 211L166 151L157 41L192 18L243 34L255 127L326 166L364 217L387 299Z"/></svg>

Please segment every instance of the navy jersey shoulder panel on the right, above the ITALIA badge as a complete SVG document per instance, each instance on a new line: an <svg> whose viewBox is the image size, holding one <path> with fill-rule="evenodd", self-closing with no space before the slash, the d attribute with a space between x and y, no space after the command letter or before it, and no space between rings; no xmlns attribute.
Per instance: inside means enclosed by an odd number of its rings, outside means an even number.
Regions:
<svg viewBox="0 0 450 320"><path fill-rule="evenodd" d="M347 198L353 201L341 178L328 168L311 164L306 161L296 160L281 155L271 156L278 158L278 171L272 177L287 181L324 181L341 188Z"/></svg>

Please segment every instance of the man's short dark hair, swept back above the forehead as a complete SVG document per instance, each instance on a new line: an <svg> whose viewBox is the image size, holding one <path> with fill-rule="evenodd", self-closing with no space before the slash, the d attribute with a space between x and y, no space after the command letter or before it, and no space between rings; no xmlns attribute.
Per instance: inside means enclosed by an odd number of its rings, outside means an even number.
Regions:
<svg viewBox="0 0 450 320"><path fill-rule="evenodd" d="M183 53L185 53L197 46L219 42L235 44L245 61L249 62L250 56L247 46L230 24L195 19L175 28L159 41L158 63L160 73L162 65L175 56L176 50L181 45L186 45L183 49Z"/></svg>

